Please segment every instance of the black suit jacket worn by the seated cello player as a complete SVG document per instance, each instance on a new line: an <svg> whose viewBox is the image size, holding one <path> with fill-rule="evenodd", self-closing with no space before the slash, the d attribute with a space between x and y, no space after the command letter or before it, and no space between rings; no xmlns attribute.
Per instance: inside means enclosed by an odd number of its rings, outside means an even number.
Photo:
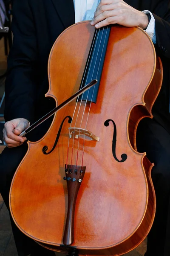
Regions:
<svg viewBox="0 0 170 256"><path fill-rule="evenodd" d="M166 126L169 122L170 1L126 2L136 9L153 12L156 20L156 49L164 64L164 86L154 113ZM53 100L44 96L48 91L48 55L59 34L74 24L74 15L73 0L14 0L14 41L8 56L6 79L6 121L23 117L34 122L54 107Z"/></svg>

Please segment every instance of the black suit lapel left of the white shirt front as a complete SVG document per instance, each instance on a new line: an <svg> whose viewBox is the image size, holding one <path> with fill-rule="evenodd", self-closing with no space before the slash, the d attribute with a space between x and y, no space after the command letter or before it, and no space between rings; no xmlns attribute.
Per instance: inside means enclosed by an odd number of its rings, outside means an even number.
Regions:
<svg viewBox="0 0 170 256"><path fill-rule="evenodd" d="M68 28L75 23L75 12L73 0L51 0L59 15L63 26Z"/></svg>

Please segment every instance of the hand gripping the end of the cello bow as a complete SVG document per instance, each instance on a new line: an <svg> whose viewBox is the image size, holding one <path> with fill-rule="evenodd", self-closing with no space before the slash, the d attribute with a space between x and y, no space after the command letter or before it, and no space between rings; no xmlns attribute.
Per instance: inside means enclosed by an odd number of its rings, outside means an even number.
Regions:
<svg viewBox="0 0 170 256"><path fill-rule="evenodd" d="M20 146L26 141L26 137L20 137L20 133L29 127L29 122L25 118L17 118L8 121L4 125L3 139L8 148Z"/></svg>

